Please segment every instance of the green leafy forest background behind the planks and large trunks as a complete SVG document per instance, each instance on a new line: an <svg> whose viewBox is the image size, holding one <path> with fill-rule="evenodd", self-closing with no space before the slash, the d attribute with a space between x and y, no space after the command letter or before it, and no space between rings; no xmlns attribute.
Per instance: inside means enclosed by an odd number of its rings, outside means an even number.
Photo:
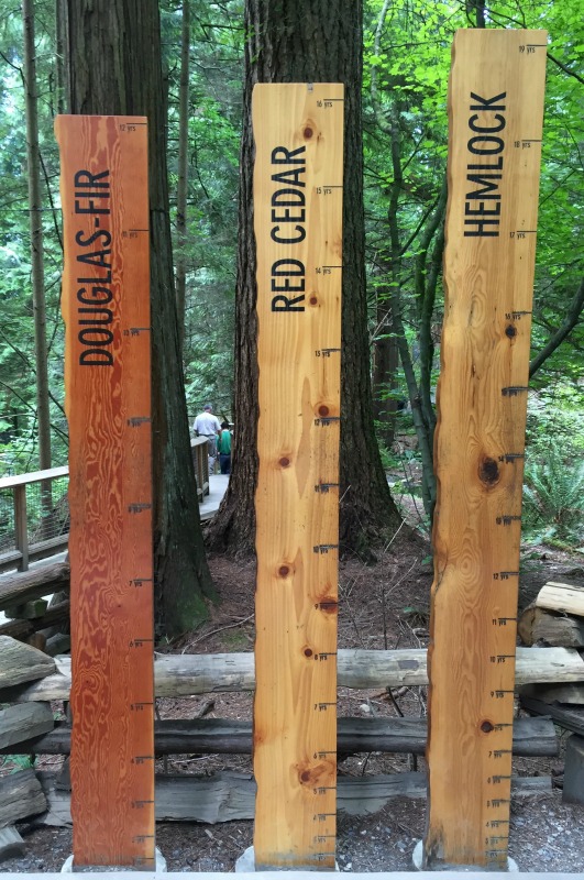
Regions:
<svg viewBox="0 0 584 880"><path fill-rule="evenodd" d="M25 0L22 8L3 6L0 476L67 462L59 166L53 121L57 112L71 109L67 77L75 68L75 58L66 57L63 18L67 3L36 0L33 8ZM111 6L123 3L112 0ZM241 346L234 339L238 330L240 339L243 332L235 327L241 284L238 191L243 168L243 84L245 69L249 73L256 63L250 57L250 45L262 38L252 26L262 6L254 0L164 0L158 4L176 314L187 402L186 408L176 408L175 418L186 427L187 416L191 424L203 403L212 400L221 419L234 421L235 437L242 415L234 395ZM311 0L298 0L296 6L298 16L307 19L321 7ZM418 526L429 534L443 306L447 89L452 37L456 29L467 26L543 28L550 34L525 536L580 547L584 540L584 331L580 321L584 307L584 24L576 0L488 6L476 0L366 0L364 4L366 370L375 437L384 471L393 475L395 495L404 490L411 494ZM88 36L96 41L97 52L99 38L99 31ZM323 41L320 52L326 51ZM34 112L31 96L36 98ZM245 152L241 155L245 162ZM354 160L345 155L349 166ZM184 442L186 430L179 435ZM253 497L252 490L253 485L247 497ZM228 531L216 529L216 544L229 544ZM205 576L203 572L203 581ZM203 614L202 605L194 614ZM183 622L175 628L180 631Z"/></svg>

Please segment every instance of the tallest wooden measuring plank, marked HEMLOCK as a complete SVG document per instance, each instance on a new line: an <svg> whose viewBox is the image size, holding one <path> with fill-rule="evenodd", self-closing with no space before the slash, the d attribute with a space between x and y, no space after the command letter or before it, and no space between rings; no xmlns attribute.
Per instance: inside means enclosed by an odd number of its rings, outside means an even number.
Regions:
<svg viewBox="0 0 584 880"><path fill-rule="evenodd" d="M452 53L426 867L507 866L546 37Z"/></svg>

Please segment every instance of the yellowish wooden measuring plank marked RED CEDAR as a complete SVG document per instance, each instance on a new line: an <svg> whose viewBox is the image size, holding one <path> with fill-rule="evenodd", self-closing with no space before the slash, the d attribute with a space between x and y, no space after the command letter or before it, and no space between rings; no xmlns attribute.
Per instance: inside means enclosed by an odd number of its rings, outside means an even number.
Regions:
<svg viewBox="0 0 584 880"><path fill-rule="evenodd" d="M334 867L343 87L253 94L256 868Z"/></svg>

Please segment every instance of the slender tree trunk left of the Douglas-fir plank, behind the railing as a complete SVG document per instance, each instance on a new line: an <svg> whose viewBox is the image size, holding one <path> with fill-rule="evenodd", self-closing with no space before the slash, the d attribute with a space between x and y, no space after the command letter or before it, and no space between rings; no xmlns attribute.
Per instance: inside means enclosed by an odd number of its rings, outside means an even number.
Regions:
<svg viewBox="0 0 584 880"><path fill-rule="evenodd" d="M34 45L34 3L23 0L24 86L26 101L26 162L29 170L29 218L34 304L34 353L36 365L36 415L38 420L38 466L51 468L51 415L48 410L48 369L46 345L45 273L43 253L43 215L41 204L41 164L36 94L36 47ZM45 513L51 512L51 484L43 484L41 497Z"/></svg>

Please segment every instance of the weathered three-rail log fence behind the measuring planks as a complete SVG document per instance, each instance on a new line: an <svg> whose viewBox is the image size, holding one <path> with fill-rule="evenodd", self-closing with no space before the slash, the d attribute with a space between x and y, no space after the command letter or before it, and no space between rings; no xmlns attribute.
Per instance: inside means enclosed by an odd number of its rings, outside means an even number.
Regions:
<svg viewBox="0 0 584 880"><path fill-rule="evenodd" d="M255 688L253 653L155 656L156 696L181 697L196 694L247 691ZM361 651L343 649L338 657L339 685L356 690L396 689L426 685L426 651ZM517 684L537 682L584 682L584 662L577 651L564 648L519 648ZM0 754L69 754L70 728L54 724L48 703L67 702L70 689L70 658L52 659L9 637L0 637L0 703L9 704L0 715ZM5 713L5 714L4 714ZM338 751L342 755L368 751L423 754L427 740L425 718L340 718ZM514 725L514 754L553 756L558 740L549 718L517 718ZM252 723L221 718L161 721L155 727L155 751L163 755L250 754ZM240 774L241 776L241 774ZM30 790L24 796L1 791L0 828L29 815L48 810L40 821L46 824L70 822L69 792L55 774L21 771L19 778ZM41 794L38 793L42 787ZM550 791L549 778L516 781L516 792L540 794ZM225 791L230 795L225 795ZM339 809L349 813L372 812L390 798L426 796L422 773L352 779L339 777ZM45 799L45 800L43 800ZM185 821L222 822L252 817L254 782L247 774L235 779L230 773L214 777L159 777L156 780L156 815ZM19 813L20 809L20 813ZM13 845L10 844L9 845ZM2 840L0 835L0 853Z"/></svg>

